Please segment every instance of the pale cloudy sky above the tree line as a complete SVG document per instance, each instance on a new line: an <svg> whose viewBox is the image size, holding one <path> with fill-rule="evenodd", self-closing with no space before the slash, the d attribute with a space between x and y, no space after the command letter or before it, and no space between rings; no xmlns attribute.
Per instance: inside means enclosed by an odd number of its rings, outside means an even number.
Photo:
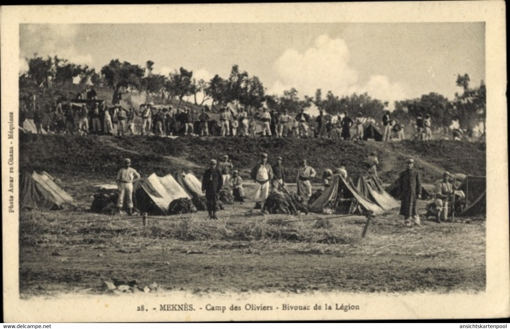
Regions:
<svg viewBox="0 0 510 329"><path fill-rule="evenodd" d="M452 99L457 74L473 85L485 79L484 34L484 23L20 24L20 71L34 53L96 70L112 59L151 60L155 72L182 66L206 80L238 64L270 94Z"/></svg>

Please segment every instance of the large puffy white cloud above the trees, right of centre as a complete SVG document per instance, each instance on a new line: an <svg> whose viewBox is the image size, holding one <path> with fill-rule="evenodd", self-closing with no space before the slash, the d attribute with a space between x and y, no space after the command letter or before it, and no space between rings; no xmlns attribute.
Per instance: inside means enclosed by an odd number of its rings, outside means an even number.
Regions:
<svg viewBox="0 0 510 329"><path fill-rule="evenodd" d="M322 93L332 91L335 95L367 92L382 101L405 98L399 83L391 83L384 75L372 75L363 84L358 71L349 65L349 49L342 39L321 35L312 48L300 53L287 49L274 63L278 80L268 90L270 94L282 94L295 87L300 97L313 96L320 88Z"/></svg>

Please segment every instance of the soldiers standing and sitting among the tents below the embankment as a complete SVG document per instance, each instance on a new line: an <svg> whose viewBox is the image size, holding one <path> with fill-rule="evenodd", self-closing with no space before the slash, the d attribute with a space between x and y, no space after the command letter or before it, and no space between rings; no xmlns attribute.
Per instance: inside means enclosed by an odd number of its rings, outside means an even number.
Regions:
<svg viewBox="0 0 510 329"><path fill-rule="evenodd" d="M367 157L369 161L369 174L377 177L378 159L375 154ZM414 167L413 158L406 160L406 169L401 172L399 177L399 191L401 196L400 215L404 216L404 224L407 227L420 226L420 217L417 210L417 200L422 194L422 179L420 172ZM325 170L322 175L323 187L327 188L331 182L333 171ZM335 174L340 174L347 179L347 171L342 166L335 170ZM306 159L302 159L297 169L297 196L302 200L303 204L307 204L312 196L311 179L316 177L315 169L308 165ZM261 209L264 212L264 204L272 189L285 190L286 178L283 159L281 156L276 157L274 165L268 163L268 154L261 153L260 161L258 161L250 171L250 178L256 184L256 193L254 195L254 208ZM378 177L377 177L378 178ZM435 200L433 205L436 209L436 221L438 223L448 220L448 208L454 201L454 188L450 182L451 175L449 172L443 174L443 179L435 185ZM119 198L117 207L120 211L126 199L127 212L132 214L133 209L133 182L140 179L140 174L131 168L131 160L124 160L124 167L119 170L117 175L117 184L119 189ZM243 180L237 170L234 170L232 161L228 155L224 155L220 161L211 159L209 168L203 173L201 179L201 189L207 200L207 210L209 218L216 220L218 200L220 191L223 188L232 190L234 200L240 203L245 202L245 194L243 188ZM287 192L287 191L286 191Z"/></svg>

